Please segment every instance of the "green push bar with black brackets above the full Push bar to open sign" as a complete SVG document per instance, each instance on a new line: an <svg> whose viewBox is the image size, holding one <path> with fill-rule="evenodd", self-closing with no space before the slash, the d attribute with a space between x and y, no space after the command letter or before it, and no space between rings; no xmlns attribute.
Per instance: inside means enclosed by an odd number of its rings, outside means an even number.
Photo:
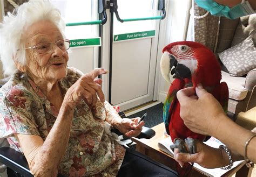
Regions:
<svg viewBox="0 0 256 177"><path fill-rule="evenodd" d="M155 20L155 19L164 19L166 16L165 12L165 0L159 0L158 1L158 10L162 11L161 16L156 16L156 17L144 17L144 18L127 18L127 19L121 19L118 14L118 5L117 5L117 0L110 0L110 11L114 12L116 14L117 20L121 23L123 22L131 22L131 21L140 21L140 20Z"/></svg>

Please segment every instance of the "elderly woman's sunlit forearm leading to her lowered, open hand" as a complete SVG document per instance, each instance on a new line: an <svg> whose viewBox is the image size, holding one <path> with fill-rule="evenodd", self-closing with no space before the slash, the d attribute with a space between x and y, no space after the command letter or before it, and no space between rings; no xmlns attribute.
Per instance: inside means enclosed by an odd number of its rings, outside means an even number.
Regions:
<svg viewBox="0 0 256 177"><path fill-rule="evenodd" d="M104 102L105 108L106 108L106 121L113 125L114 127L116 126L116 122L119 122L122 120L122 118L119 116L116 110L112 107L109 102L105 101ZM116 128L116 127L115 127Z"/></svg>

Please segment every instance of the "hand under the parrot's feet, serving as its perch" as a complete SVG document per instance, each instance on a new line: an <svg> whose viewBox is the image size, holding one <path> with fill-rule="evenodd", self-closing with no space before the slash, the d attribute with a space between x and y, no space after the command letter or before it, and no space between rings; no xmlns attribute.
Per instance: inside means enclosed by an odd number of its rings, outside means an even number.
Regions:
<svg viewBox="0 0 256 177"><path fill-rule="evenodd" d="M218 168L228 165L226 152L221 148L213 148L198 141L197 153L179 153L178 149L174 150L174 159L183 166L185 162L196 162L205 168Z"/></svg>

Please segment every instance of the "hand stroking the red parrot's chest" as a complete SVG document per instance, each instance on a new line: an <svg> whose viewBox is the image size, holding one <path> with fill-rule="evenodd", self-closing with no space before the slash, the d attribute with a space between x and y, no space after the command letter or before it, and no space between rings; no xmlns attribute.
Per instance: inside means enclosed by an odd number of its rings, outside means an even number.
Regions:
<svg viewBox="0 0 256 177"><path fill-rule="evenodd" d="M184 124L193 132L214 136L225 112L212 94L199 85L196 92L193 87L179 90L177 98Z"/></svg>

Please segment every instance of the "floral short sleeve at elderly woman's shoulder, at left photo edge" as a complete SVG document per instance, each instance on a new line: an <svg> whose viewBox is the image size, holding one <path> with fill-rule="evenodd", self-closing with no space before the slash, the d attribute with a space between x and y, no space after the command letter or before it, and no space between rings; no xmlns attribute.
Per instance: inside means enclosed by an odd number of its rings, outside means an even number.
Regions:
<svg viewBox="0 0 256 177"><path fill-rule="evenodd" d="M31 97L24 89L12 87L6 95L0 94L0 138L14 136L14 133L40 136L35 118L30 111Z"/></svg>

